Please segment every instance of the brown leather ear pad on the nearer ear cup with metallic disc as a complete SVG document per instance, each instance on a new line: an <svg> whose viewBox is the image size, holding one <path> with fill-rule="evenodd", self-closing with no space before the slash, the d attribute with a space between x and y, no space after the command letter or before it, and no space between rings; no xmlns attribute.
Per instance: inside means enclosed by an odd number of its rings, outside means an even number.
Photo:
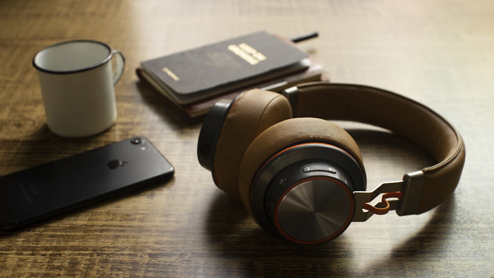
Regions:
<svg viewBox="0 0 494 278"><path fill-rule="evenodd" d="M364 172L357 143L343 128L324 119L294 118L279 122L257 136L240 165L239 192L248 213L255 219L250 204L250 187L262 164L280 150L299 142L327 142L348 152Z"/></svg>

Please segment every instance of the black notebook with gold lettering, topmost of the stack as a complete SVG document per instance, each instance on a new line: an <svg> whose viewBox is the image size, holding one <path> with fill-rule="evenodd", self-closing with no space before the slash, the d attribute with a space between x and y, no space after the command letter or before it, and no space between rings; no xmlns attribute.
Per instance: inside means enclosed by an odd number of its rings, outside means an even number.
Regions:
<svg viewBox="0 0 494 278"><path fill-rule="evenodd" d="M178 104L189 104L310 66L309 55L264 31L144 61L141 68Z"/></svg>

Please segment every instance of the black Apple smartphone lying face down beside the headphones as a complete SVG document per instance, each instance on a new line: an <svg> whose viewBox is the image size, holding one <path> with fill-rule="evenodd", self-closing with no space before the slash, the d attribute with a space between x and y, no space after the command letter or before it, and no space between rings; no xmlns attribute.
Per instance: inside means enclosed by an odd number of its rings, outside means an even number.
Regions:
<svg viewBox="0 0 494 278"><path fill-rule="evenodd" d="M133 137L0 177L0 229L11 230L170 179L174 168Z"/></svg>

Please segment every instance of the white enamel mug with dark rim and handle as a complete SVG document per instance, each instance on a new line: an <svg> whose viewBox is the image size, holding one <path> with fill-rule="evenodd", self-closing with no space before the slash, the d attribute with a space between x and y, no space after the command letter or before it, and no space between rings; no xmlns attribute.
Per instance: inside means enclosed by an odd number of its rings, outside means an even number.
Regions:
<svg viewBox="0 0 494 278"><path fill-rule="evenodd" d="M113 125L114 86L125 66L120 51L100 41L65 41L41 49L33 66L38 70L46 123L55 134L85 137Z"/></svg>

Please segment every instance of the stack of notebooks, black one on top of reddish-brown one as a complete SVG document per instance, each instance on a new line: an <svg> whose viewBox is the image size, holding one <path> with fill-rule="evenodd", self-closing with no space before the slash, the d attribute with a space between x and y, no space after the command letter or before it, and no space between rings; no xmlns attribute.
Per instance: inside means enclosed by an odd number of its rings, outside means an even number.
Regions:
<svg viewBox="0 0 494 278"><path fill-rule="evenodd" d="M242 91L281 92L326 79L325 67L295 46L298 40L256 32L144 61L136 73L182 119L200 121L218 100L234 99Z"/></svg>

